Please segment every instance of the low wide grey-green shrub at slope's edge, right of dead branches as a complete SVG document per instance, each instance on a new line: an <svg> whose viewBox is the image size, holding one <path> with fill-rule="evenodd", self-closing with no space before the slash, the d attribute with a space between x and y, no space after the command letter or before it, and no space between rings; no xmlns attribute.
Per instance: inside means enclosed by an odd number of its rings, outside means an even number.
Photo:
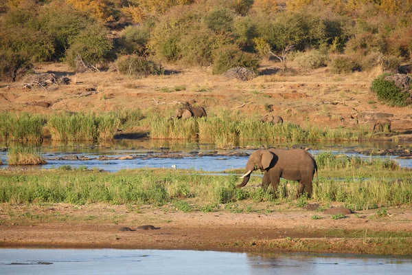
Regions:
<svg viewBox="0 0 412 275"><path fill-rule="evenodd" d="M164 72L160 64L135 54L117 58L115 65L120 74L128 76L149 76L151 74L163 74Z"/></svg>

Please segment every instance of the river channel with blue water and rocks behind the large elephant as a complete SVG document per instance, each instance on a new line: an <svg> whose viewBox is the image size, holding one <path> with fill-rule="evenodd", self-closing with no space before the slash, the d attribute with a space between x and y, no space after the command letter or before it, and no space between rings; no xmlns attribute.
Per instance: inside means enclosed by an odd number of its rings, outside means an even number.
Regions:
<svg viewBox="0 0 412 275"><path fill-rule="evenodd" d="M248 149L248 144L244 144L241 148L230 148L227 150L216 149L213 144L198 144L196 142L187 143L179 141L164 141L164 140L115 140L106 144L59 144L43 142L40 149L41 155L47 160L47 164L42 166L22 166L21 168L58 168L62 165L68 165L73 168L78 166L87 166L87 168L98 168L108 172L116 172L122 169L130 168L176 168L194 169L220 172L222 170L233 168L244 168L248 157L226 156L226 155L209 155L199 157L197 153L229 153L229 152L245 152L251 153L254 149ZM258 144L251 144L256 148ZM277 146L277 144L263 144L269 146ZM373 148L391 148L393 146L411 146L409 143L400 142L346 142L346 143L312 143L299 144L309 148L312 155L317 153L330 151L336 154L358 155L360 157L370 157L356 153L356 150L373 149ZM284 144L283 146L292 146L292 144ZM147 157L148 155L160 155L165 152L173 152L175 155L183 157ZM193 154L195 152L195 154ZM77 157L89 157L90 160L56 160L56 157L68 157L76 155ZM110 159L99 160L98 157L124 157L131 155L134 159ZM380 156L374 156L380 157ZM386 157L386 156L383 156ZM0 152L0 158L7 164L7 153ZM390 158L395 159L402 167L412 168L412 159L399 159L396 156ZM10 166L16 168L18 166Z"/></svg>

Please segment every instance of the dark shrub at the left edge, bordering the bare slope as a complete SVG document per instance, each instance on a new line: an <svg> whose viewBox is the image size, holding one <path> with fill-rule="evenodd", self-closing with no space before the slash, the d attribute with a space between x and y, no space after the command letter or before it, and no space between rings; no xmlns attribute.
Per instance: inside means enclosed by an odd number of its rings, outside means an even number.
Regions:
<svg viewBox="0 0 412 275"><path fill-rule="evenodd" d="M10 51L0 51L0 80L16 81L32 71L30 58L23 54Z"/></svg>

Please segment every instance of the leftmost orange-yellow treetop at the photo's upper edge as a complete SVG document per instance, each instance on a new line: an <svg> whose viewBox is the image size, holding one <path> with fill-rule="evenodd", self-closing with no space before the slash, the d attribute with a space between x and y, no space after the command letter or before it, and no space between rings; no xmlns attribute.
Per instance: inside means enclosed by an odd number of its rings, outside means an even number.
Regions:
<svg viewBox="0 0 412 275"><path fill-rule="evenodd" d="M104 0L65 0L74 8L84 12L90 12L97 19L104 22L113 20L110 9Z"/></svg>

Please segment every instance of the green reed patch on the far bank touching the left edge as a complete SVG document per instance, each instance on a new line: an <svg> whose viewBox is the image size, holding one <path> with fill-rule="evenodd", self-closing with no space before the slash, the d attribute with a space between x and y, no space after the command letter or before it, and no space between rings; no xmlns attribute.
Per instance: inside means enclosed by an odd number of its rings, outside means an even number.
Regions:
<svg viewBox="0 0 412 275"><path fill-rule="evenodd" d="M44 120L30 113L0 113L0 140L40 141Z"/></svg>

